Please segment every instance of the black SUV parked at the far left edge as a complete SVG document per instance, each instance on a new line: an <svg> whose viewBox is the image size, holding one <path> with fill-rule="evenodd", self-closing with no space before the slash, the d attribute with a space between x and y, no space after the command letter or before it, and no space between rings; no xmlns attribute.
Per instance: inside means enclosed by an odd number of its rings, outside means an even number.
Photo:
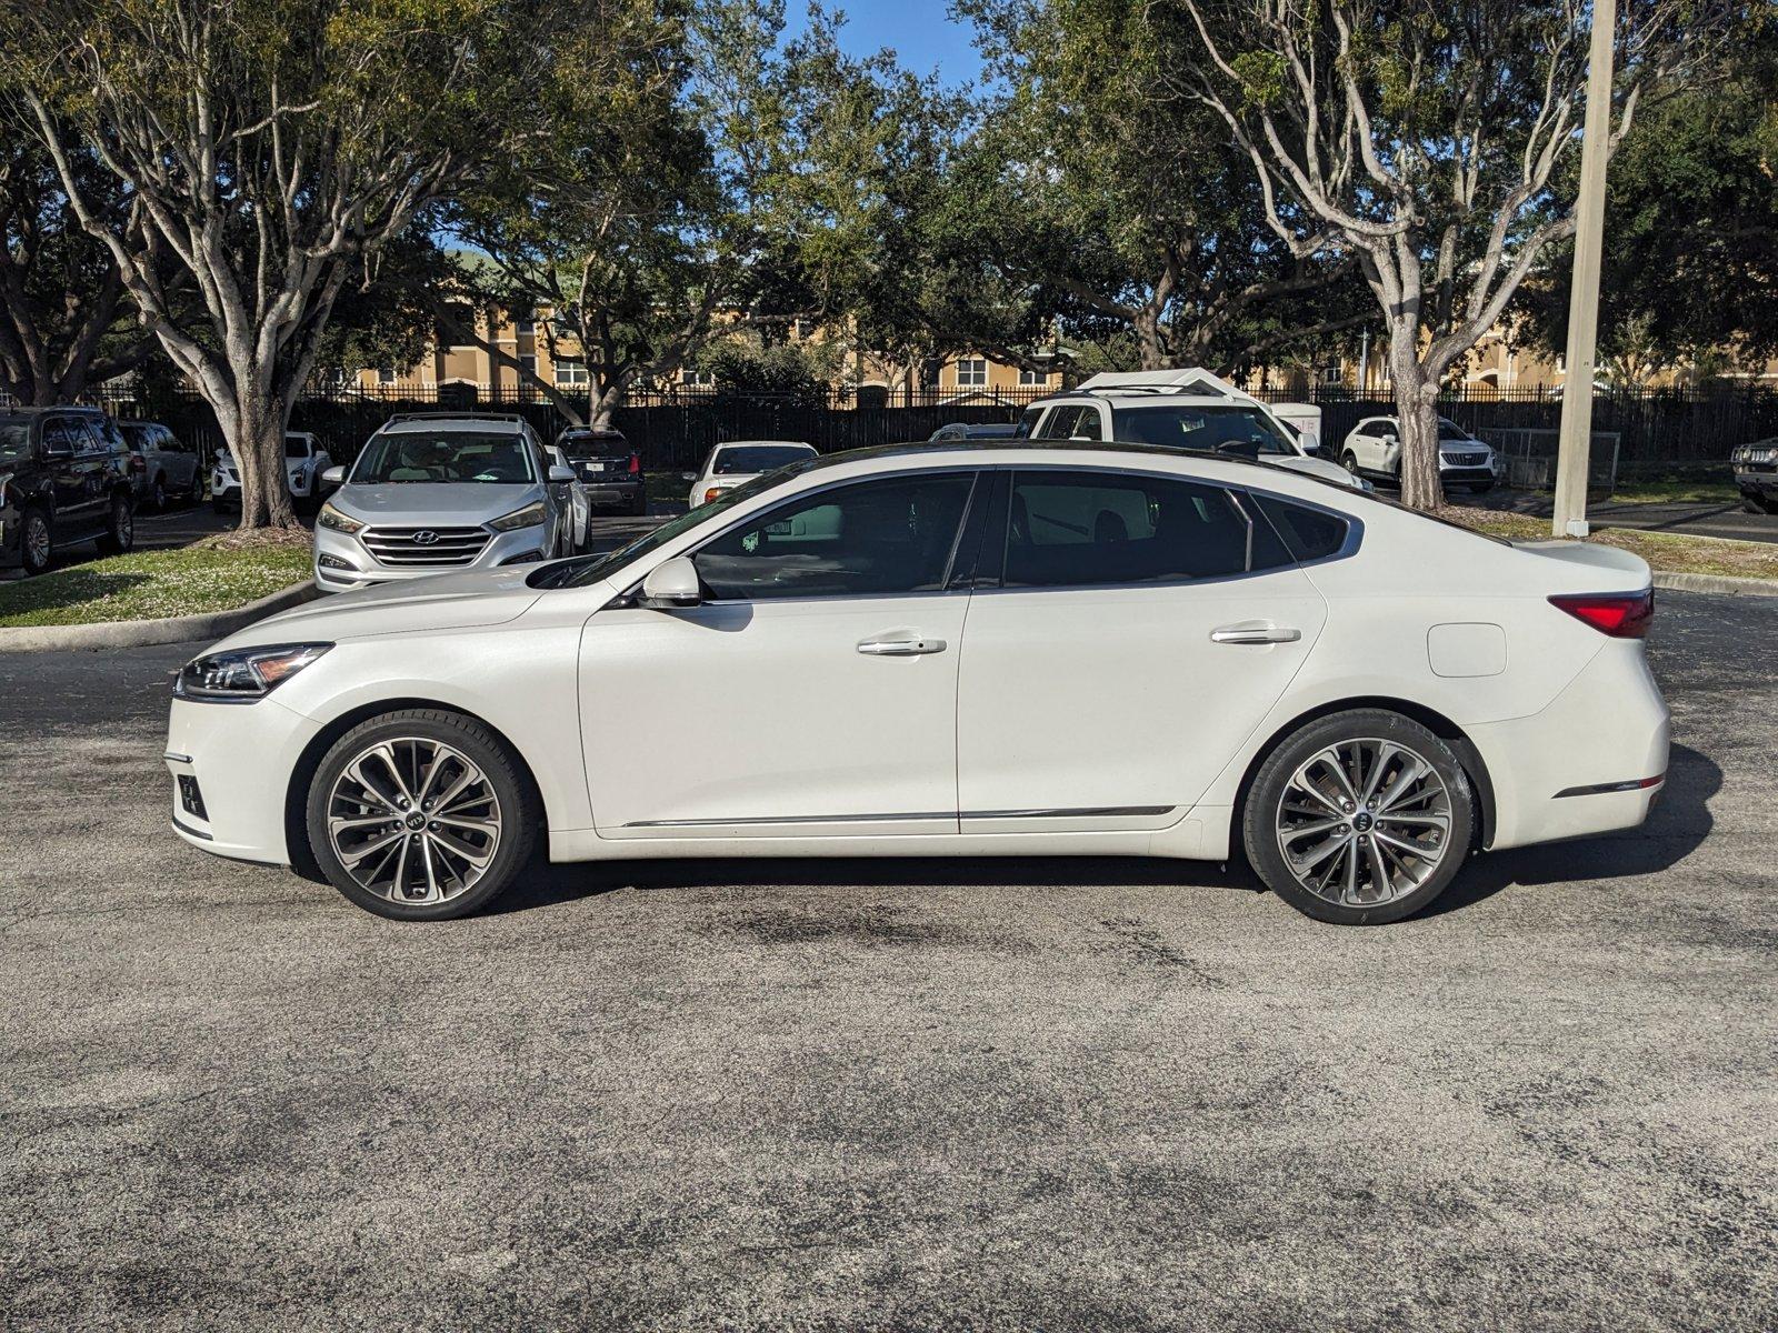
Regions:
<svg viewBox="0 0 1778 1333"><path fill-rule="evenodd" d="M0 571L41 574L57 546L135 544L123 435L94 407L0 407Z"/></svg>

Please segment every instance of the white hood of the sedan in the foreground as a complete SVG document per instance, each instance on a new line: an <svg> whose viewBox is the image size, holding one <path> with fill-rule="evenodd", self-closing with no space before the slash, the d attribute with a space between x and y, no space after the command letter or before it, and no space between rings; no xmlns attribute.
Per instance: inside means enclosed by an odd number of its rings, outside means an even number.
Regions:
<svg viewBox="0 0 1778 1333"><path fill-rule="evenodd" d="M219 647L304 643L405 635L432 629L475 629L516 620L542 594L526 587L537 565L432 574L359 592L340 592L267 617Z"/></svg>

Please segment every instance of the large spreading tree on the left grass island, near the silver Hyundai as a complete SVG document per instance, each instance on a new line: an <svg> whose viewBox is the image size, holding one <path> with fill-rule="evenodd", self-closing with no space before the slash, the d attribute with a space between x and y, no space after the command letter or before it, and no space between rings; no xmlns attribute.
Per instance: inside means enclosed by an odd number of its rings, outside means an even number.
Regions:
<svg viewBox="0 0 1778 1333"><path fill-rule="evenodd" d="M295 524L284 425L354 267L528 132L548 39L622 32L628 0L0 4L18 34L4 73L142 325L215 411L252 528Z"/></svg>

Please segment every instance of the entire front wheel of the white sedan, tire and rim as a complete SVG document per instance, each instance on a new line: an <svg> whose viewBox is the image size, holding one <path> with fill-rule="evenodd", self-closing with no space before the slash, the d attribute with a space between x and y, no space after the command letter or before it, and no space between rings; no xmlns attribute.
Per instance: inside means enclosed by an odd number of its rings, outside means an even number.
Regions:
<svg viewBox="0 0 1778 1333"><path fill-rule="evenodd" d="M444 921L487 906L532 858L541 803L507 746L444 709L341 736L308 794L309 850L366 912Z"/></svg>

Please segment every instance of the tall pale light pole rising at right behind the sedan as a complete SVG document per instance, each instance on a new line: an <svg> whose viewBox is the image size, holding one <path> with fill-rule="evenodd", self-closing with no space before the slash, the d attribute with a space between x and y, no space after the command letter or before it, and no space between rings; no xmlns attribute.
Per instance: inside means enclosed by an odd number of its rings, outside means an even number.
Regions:
<svg viewBox="0 0 1778 1333"><path fill-rule="evenodd" d="M1598 350L1598 265L1606 233L1606 164L1611 139L1611 57L1616 0L1593 0L1586 66L1581 197L1575 199L1574 286L1568 291L1568 355L1556 441L1556 537L1586 537L1586 464L1593 446L1593 359Z"/></svg>

